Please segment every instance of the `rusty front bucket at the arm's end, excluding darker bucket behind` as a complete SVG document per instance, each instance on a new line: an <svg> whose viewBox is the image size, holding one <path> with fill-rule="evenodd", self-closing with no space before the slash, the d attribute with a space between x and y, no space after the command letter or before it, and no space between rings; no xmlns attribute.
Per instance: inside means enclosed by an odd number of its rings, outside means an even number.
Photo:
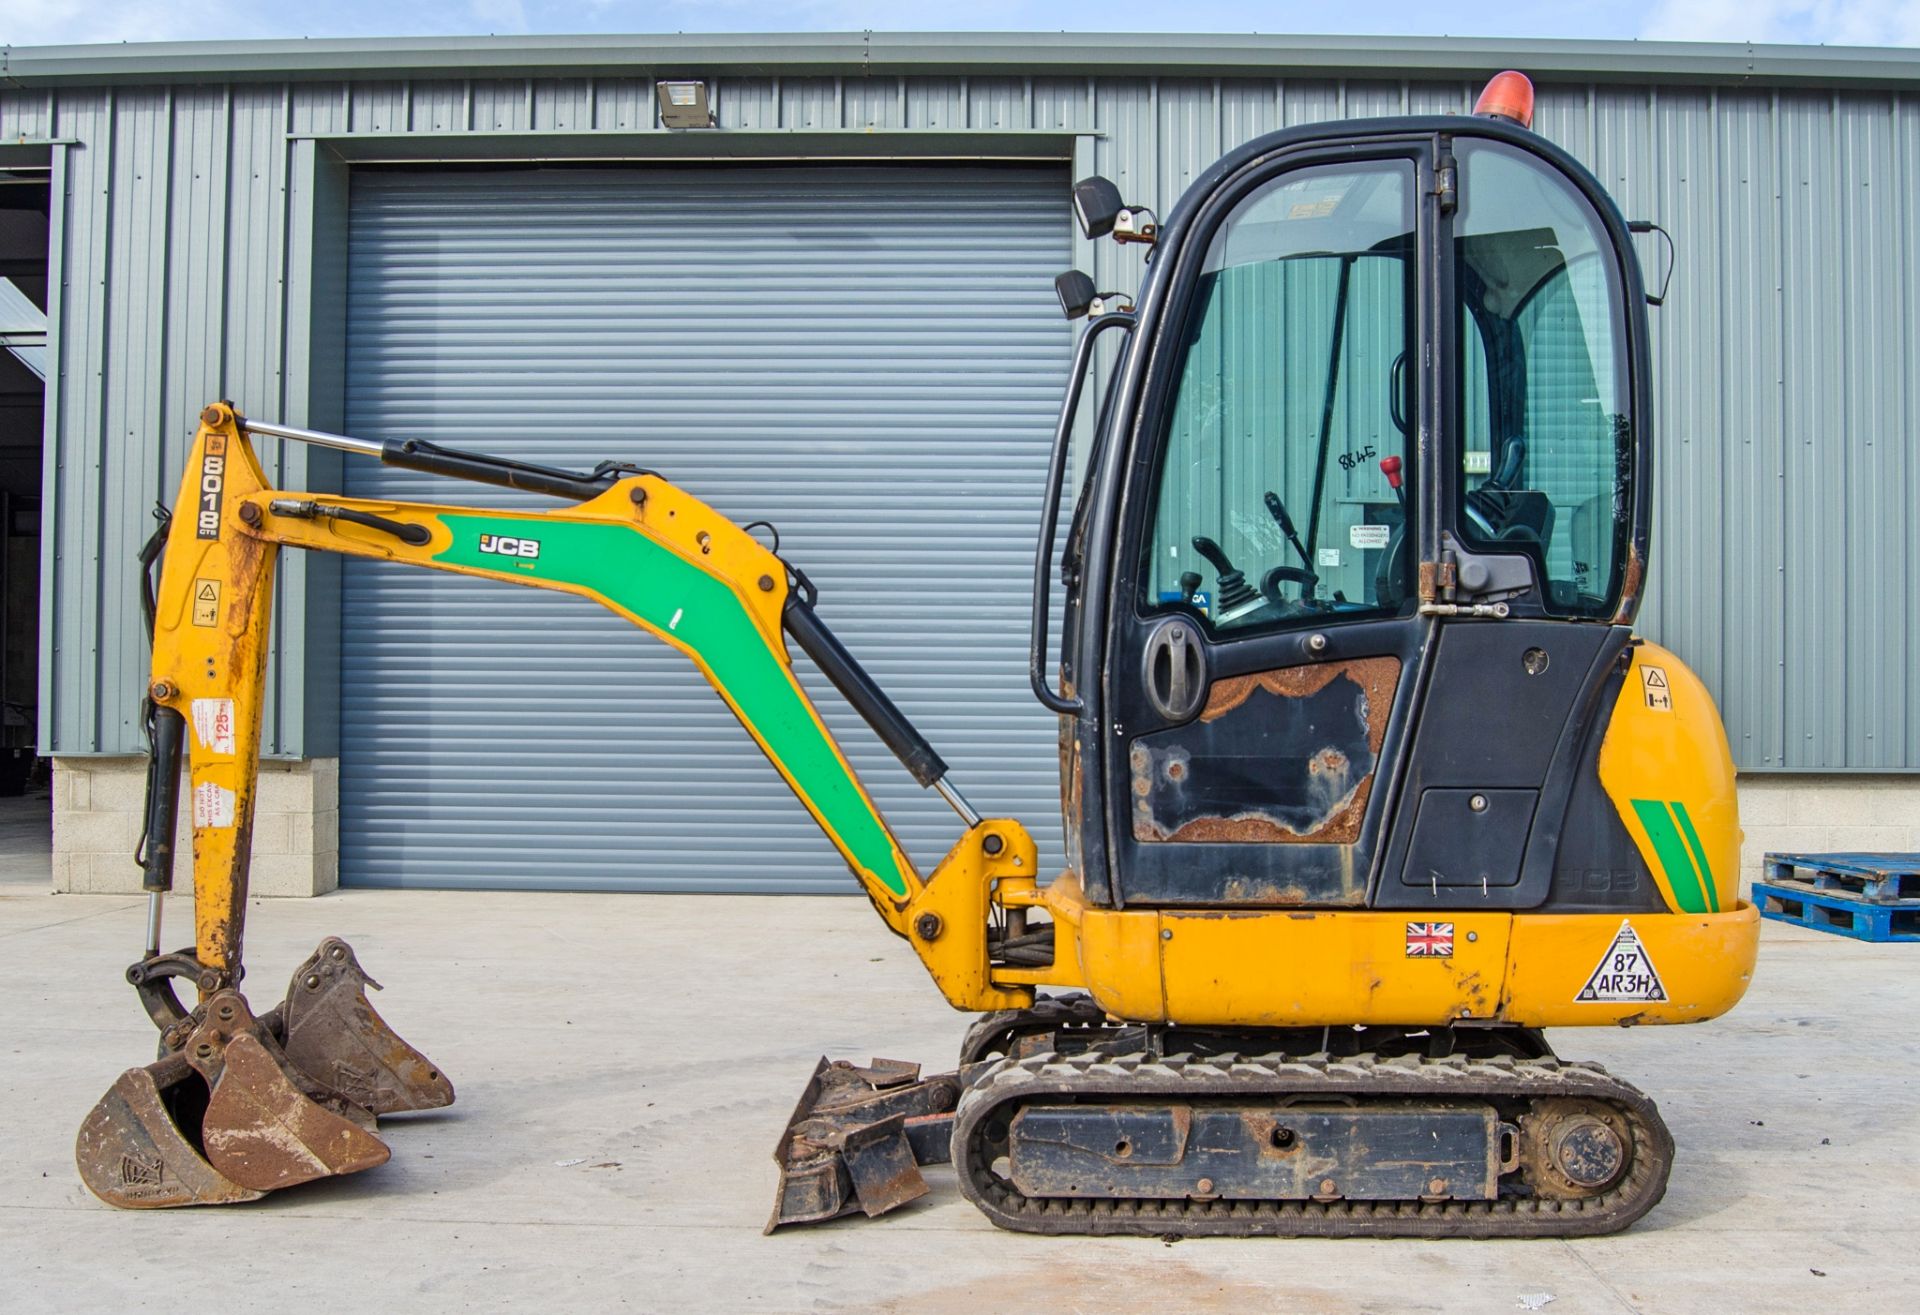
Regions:
<svg viewBox="0 0 1920 1315"><path fill-rule="evenodd" d="M294 1069L238 991L179 1054L129 1069L81 1125L81 1179L111 1206L217 1206L388 1160L372 1115Z"/></svg>

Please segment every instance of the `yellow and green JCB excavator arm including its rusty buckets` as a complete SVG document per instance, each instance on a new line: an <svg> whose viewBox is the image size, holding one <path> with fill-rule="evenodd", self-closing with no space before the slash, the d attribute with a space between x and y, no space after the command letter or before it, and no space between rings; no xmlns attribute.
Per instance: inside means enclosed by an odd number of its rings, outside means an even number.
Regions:
<svg viewBox="0 0 1920 1315"><path fill-rule="evenodd" d="M288 493L267 484L253 434L321 442L453 478L568 497L553 511ZM812 609L812 586L751 534L651 472L549 470L432 445L374 445L250 426L230 405L202 415L180 497L156 538L148 726L148 944L129 969L167 1058L131 1069L88 1117L79 1163L119 1206L257 1196L386 1160L374 1115L453 1100L447 1079L374 1012L353 950L328 939L284 1004L255 1017L238 992L265 706L265 635L282 547L344 553L572 593L685 653L847 860L881 920L920 950L956 1008L1031 1004L989 971L989 891L1031 889L1033 839L981 820L947 766ZM787 655L793 637L922 785L966 822L935 883L922 877ZM175 801L186 762L194 944L161 952L173 885ZM968 935L972 931L972 935ZM180 1004L173 983L200 994ZM171 1131L169 1131L171 1127ZM280 1160L269 1148L282 1146Z"/></svg>

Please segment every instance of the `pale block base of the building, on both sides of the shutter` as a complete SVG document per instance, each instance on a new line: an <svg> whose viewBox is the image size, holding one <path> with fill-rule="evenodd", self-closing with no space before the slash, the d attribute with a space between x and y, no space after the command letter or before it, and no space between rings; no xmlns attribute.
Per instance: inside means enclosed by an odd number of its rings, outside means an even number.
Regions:
<svg viewBox="0 0 1920 1315"><path fill-rule="evenodd" d="M132 847L140 839L146 758L54 760L54 889L138 893ZM190 881L180 808L180 862ZM1920 776L1743 776L1741 891L1763 875L1766 852L1920 852ZM340 885L340 760L263 762L253 818L253 895L326 895Z"/></svg>

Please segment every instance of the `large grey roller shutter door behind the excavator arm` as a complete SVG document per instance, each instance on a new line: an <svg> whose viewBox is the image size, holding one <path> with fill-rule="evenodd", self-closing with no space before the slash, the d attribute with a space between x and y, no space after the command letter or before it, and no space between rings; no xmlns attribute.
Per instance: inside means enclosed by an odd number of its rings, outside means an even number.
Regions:
<svg viewBox="0 0 1920 1315"><path fill-rule="evenodd" d="M983 812L1060 856L1025 678L1071 334L1066 169L357 173L348 426L660 470L772 520L820 614ZM547 505L349 463L348 491ZM691 664L578 599L369 562L342 582L349 885L851 891ZM922 872L958 820L797 655Z"/></svg>

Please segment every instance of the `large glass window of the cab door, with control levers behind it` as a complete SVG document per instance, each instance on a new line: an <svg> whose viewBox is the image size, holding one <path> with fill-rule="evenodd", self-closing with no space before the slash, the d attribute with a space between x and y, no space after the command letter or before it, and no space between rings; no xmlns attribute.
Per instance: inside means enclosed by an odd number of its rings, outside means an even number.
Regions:
<svg viewBox="0 0 1920 1315"><path fill-rule="evenodd" d="M1413 165L1317 165L1208 246L1150 532L1144 610L1212 632L1411 607Z"/></svg>

